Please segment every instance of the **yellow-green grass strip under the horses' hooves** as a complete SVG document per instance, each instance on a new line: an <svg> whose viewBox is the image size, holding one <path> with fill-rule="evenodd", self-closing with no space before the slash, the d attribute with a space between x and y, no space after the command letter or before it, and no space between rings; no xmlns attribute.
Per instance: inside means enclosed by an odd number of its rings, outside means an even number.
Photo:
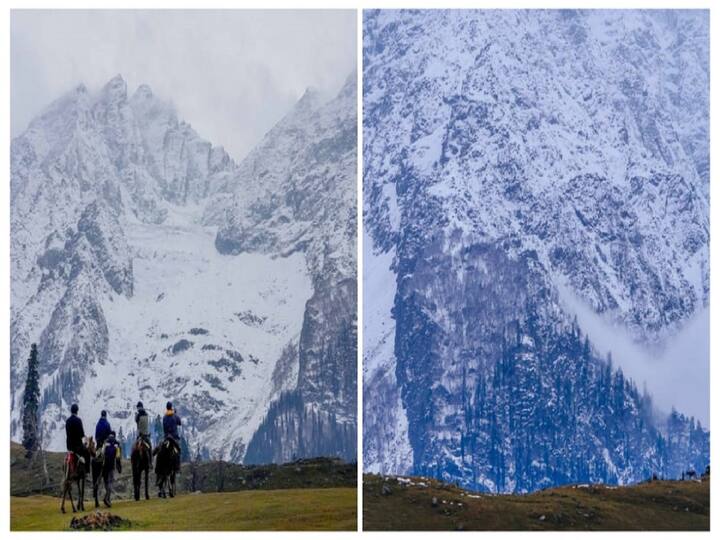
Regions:
<svg viewBox="0 0 720 540"><path fill-rule="evenodd" d="M276 489L179 495L174 499L118 501L110 509L130 520L128 530L254 531L355 530L356 489ZM69 530L73 515L60 513L60 499L46 495L10 498L12 531Z"/></svg>

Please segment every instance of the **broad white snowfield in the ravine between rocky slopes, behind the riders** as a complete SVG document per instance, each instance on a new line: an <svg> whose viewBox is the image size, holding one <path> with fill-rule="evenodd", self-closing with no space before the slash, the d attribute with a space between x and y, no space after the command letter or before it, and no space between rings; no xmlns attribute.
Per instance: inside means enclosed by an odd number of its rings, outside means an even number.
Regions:
<svg viewBox="0 0 720 540"><path fill-rule="evenodd" d="M298 340L312 285L301 253L221 255L216 228L199 224L201 206L168 210L161 225L125 218L133 295L111 294L102 301L108 362L93 366L95 373L86 378L81 412L94 421L105 408L113 427L129 433L129 413L138 399L152 416L168 400L179 410L183 402L192 403L202 416L186 423L204 432L203 445L229 457L233 443L252 437L268 396L279 390L273 388L275 364ZM283 388L297 382L296 360ZM213 363L217 373L208 375ZM215 427L206 431L208 425ZM63 431L53 430L52 437L49 448L61 449Z"/></svg>

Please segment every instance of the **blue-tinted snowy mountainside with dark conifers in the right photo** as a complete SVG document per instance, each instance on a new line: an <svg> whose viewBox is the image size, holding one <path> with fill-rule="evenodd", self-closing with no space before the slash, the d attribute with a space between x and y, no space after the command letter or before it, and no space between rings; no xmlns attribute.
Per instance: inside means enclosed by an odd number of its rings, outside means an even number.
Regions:
<svg viewBox="0 0 720 540"><path fill-rule="evenodd" d="M708 305L707 12L366 12L363 57L365 466L704 467L571 306L658 350Z"/></svg>

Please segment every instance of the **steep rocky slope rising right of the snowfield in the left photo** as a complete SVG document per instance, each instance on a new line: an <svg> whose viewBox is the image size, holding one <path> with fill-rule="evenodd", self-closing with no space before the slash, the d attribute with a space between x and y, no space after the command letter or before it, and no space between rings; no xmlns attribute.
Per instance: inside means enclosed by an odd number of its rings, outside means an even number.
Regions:
<svg viewBox="0 0 720 540"><path fill-rule="evenodd" d="M235 194L218 231L221 251L303 252L313 282L297 387L278 396L248 447L249 462L356 457L356 86L351 75L320 106L313 91L303 96L243 162L240 175L249 180L240 185L254 191ZM258 234L268 224L275 234Z"/></svg>

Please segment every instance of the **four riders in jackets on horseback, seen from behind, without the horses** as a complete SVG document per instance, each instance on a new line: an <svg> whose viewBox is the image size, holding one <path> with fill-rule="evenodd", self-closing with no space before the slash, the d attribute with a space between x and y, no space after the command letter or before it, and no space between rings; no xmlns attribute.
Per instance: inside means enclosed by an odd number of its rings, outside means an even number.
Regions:
<svg viewBox="0 0 720 540"><path fill-rule="evenodd" d="M180 417L175 412L172 402L168 401L165 408L165 415L162 420L164 442L158 445L153 451L152 441L150 439L150 416L148 415L143 403L138 401L135 411L135 425L137 427L137 439L135 445L144 445L147 448L149 456L157 454L159 448L163 445L172 447L172 454L175 456L172 465L175 472L180 470L180 435L178 427L181 426ZM122 449L120 441L118 441L115 431L112 429L107 417L107 411L100 413L100 419L95 425L95 452L91 456L90 449L87 445L83 423L78 416L79 407L76 403L70 407L70 416L65 421L65 436L68 450L67 464L70 468L75 468L78 462L84 464L84 474L87 475L91 463L91 459L101 463L101 476L105 486L105 498L103 502L106 506L111 506L110 494L115 471L122 472ZM156 471L157 472L157 471ZM147 487L146 487L147 489ZM158 495L165 495L164 489L158 482ZM137 496L136 496L137 498Z"/></svg>

